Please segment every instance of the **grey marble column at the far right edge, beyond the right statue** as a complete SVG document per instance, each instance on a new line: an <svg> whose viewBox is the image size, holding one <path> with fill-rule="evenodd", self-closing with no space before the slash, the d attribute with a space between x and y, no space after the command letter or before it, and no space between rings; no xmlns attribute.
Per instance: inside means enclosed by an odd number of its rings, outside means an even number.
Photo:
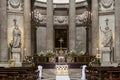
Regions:
<svg viewBox="0 0 120 80"><path fill-rule="evenodd" d="M120 0L115 0L115 25L114 60L120 62Z"/></svg>

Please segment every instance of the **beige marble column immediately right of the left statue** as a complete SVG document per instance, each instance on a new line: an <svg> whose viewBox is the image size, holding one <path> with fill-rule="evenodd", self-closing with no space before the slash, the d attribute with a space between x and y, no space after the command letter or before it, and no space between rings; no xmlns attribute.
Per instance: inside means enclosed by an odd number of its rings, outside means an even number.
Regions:
<svg viewBox="0 0 120 80"><path fill-rule="evenodd" d="M24 55L31 55L31 0L24 0Z"/></svg>

